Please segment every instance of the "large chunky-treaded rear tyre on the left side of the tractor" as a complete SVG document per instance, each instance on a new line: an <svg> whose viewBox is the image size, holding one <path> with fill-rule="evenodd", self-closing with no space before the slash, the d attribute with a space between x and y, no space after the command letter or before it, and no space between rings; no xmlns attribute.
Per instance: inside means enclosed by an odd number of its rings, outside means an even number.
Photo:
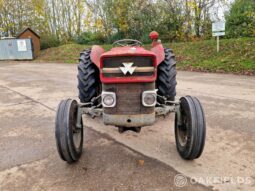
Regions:
<svg viewBox="0 0 255 191"><path fill-rule="evenodd" d="M101 93L99 69L92 63L90 53L91 50L84 50L78 64L78 89L82 103L90 102Z"/></svg>

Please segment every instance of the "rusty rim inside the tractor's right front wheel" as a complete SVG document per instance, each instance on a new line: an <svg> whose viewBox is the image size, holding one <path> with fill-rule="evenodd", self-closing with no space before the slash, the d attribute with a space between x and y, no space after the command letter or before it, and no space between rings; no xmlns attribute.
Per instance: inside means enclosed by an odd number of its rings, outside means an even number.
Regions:
<svg viewBox="0 0 255 191"><path fill-rule="evenodd" d="M188 141L188 120L186 113L184 111L181 112L182 114L182 125L178 126L177 128L177 136L179 143L182 147L187 144Z"/></svg>

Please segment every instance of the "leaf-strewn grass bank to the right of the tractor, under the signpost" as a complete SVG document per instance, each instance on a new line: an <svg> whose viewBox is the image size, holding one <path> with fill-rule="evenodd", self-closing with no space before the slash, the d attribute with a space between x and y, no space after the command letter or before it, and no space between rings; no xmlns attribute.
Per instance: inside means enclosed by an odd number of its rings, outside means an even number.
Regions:
<svg viewBox="0 0 255 191"><path fill-rule="evenodd" d="M221 40L219 53L214 40L170 46L176 53L179 69L255 74L255 38Z"/></svg>

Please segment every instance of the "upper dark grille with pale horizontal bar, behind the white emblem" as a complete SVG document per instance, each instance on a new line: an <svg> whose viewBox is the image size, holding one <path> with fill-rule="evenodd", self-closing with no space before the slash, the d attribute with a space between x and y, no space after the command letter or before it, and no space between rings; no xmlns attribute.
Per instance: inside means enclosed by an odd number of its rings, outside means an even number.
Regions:
<svg viewBox="0 0 255 191"><path fill-rule="evenodd" d="M123 63L132 64L135 70L132 74L126 74L120 69L125 67ZM102 73L104 77L133 77L133 76L153 76L155 67L153 57L149 56L120 56L104 58Z"/></svg>

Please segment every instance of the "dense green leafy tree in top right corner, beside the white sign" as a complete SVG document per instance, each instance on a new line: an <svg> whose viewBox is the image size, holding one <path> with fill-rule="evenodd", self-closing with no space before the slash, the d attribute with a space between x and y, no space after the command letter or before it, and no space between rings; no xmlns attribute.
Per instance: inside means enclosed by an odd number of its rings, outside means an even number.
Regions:
<svg viewBox="0 0 255 191"><path fill-rule="evenodd" d="M255 1L235 0L226 15L228 37L255 36Z"/></svg>

